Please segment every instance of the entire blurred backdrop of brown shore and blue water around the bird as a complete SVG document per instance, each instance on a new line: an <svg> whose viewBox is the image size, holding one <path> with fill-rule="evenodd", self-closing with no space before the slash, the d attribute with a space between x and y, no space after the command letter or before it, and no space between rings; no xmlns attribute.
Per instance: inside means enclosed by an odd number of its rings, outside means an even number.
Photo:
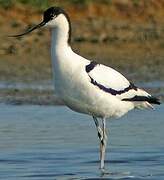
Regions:
<svg viewBox="0 0 164 180"><path fill-rule="evenodd" d="M163 101L164 0L0 0L0 179L102 179L92 118L54 106L51 32L7 37L50 6L68 12L74 51ZM162 104L108 121L107 179L164 179L163 117Z"/></svg>

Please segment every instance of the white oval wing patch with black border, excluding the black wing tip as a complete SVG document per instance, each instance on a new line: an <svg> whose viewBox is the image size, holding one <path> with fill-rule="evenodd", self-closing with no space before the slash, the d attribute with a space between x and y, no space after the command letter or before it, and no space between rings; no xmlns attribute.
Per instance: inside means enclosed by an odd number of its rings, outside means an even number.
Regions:
<svg viewBox="0 0 164 180"><path fill-rule="evenodd" d="M102 64L91 62L86 66L91 83L112 95L121 95L130 90L137 90L122 74Z"/></svg>

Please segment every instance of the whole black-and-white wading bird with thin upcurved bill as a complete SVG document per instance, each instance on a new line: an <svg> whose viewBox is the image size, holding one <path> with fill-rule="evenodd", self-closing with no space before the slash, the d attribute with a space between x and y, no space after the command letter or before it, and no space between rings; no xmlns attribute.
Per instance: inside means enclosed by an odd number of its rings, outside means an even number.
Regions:
<svg viewBox="0 0 164 180"><path fill-rule="evenodd" d="M100 170L105 173L106 120L120 118L135 108L153 108L160 100L115 69L76 54L71 47L71 20L61 7L49 7L41 23L10 37L24 36L41 27L51 30L54 92L65 106L93 117L100 143Z"/></svg>

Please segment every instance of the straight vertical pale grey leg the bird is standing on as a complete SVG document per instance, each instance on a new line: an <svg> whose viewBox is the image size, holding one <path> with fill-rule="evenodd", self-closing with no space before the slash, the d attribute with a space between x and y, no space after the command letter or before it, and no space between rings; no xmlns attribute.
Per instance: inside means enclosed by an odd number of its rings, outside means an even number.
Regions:
<svg viewBox="0 0 164 180"><path fill-rule="evenodd" d="M104 173L104 161L105 161L105 150L106 150L106 144L107 144L107 134L106 134L106 119L102 119L102 132L103 132L103 139L100 143L100 169Z"/></svg>

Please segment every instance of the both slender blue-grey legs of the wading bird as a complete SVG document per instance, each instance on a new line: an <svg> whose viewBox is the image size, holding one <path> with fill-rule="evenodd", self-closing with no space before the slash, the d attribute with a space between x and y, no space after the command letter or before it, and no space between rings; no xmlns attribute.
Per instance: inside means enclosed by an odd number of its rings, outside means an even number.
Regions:
<svg viewBox="0 0 164 180"><path fill-rule="evenodd" d="M107 144L106 119L102 119L102 128L100 127L97 118L93 116L93 119L97 128L98 137L100 139L100 169L104 173L105 149Z"/></svg>

